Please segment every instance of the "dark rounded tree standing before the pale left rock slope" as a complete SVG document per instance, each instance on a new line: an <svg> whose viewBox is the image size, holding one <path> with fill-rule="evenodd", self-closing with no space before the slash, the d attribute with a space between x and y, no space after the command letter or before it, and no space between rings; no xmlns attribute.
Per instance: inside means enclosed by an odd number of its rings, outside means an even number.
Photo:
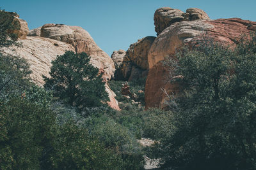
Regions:
<svg viewBox="0 0 256 170"><path fill-rule="evenodd" d="M83 111L86 107L102 106L109 100L99 69L90 64L90 57L82 53L66 52L52 61L51 78L45 87L54 90L54 96Z"/></svg>

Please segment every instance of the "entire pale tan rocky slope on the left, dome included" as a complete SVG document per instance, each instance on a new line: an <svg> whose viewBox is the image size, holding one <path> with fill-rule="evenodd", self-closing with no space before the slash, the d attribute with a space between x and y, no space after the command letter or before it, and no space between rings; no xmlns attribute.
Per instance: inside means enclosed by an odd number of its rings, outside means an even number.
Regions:
<svg viewBox="0 0 256 170"><path fill-rule="evenodd" d="M1 18L3 20L4 18ZM49 76L51 61L57 55L62 55L66 50L74 52L86 52L91 56L91 62L103 73L104 81L108 81L115 71L113 60L103 52L93 41L90 34L81 27L63 24L45 24L42 27L28 31L28 24L15 14L13 20L17 20L20 29L12 30L19 36L18 42L22 47L3 48L4 53L19 55L28 60L33 73L31 77L38 85L43 85L42 75ZM28 36L27 36L28 34ZM109 94L109 106L120 110L115 99L115 93L109 89L106 83L106 91Z"/></svg>

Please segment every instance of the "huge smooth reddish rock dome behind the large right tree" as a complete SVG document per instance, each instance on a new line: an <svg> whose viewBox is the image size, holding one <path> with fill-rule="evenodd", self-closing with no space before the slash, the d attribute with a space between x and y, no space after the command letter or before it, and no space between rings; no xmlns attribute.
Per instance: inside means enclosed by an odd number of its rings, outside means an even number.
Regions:
<svg viewBox="0 0 256 170"><path fill-rule="evenodd" d="M164 104L165 92L169 94L179 92L179 85L171 84L166 79L169 72L161 64L164 57L175 57L177 48L190 43L198 43L205 37L211 38L215 42L236 45L242 33L249 36L250 32L255 29L256 22L249 20L241 20L240 18L207 20L207 18L202 17L207 16L204 13L200 14L200 12L191 10L187 10L187 12L191 13L191 19L173 22L157 36L148 52L149 72L145 85L146 108L164 108L166 106ZM204 19L194 20L198 17Z"/></svg>

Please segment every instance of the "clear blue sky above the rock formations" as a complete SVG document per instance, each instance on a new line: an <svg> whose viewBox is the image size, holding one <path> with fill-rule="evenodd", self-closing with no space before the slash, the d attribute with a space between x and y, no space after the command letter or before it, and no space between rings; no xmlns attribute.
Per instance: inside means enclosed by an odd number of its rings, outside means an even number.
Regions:
<svg viewBox="0 0 256 170"><path fill-rule="evenodd" d="M47 23L81 26L108 55L127 50L145 36L156 36L154 12L163 6L182 11L200 8L212 19L256 21L256 0L1 0L0 6L17 12L29 29Z"/></svg>

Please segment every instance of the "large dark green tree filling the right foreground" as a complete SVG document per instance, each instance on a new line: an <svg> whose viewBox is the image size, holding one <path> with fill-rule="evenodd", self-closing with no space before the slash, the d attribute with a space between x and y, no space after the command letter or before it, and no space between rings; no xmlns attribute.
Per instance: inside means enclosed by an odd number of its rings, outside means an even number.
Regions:
<svg viewBox="0 0 256 170"><path fill-rule="evenodd" d="M256 167L255 47L255 37L234 51L205 41L167 61L172 76L182 75L173 80L180 81L182 94L169 101L173 117L158 148L164 166Z"/></svg>

